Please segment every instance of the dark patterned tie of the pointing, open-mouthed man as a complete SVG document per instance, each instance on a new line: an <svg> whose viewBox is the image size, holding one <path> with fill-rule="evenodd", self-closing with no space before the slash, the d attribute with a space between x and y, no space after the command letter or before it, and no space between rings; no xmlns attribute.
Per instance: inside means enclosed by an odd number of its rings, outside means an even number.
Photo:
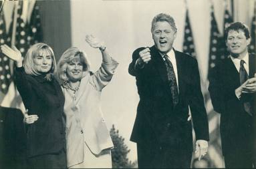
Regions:
<svg viewBox="0 0 256 169"><path fill-rule="evenodd" d="M168 55L164 55L164 65L166 67L167 72L167 80L168 86L170 87L170 91L172 93L172 104L176 106L178 104L178 85L174 73L174 69L172 67L172 63L168 59Z"/></svg>

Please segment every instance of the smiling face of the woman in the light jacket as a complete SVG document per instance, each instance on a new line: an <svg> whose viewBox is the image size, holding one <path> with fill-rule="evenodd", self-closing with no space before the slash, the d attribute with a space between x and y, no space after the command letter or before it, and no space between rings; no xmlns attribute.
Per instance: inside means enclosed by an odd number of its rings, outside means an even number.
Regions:
<svg viewBox="0 0 256 169"><path fill-rule="evenodd" d="M83 65L80 59L73 59L68 63L66 74L69 81L76 82L80 81L83 76Z"/></svg>

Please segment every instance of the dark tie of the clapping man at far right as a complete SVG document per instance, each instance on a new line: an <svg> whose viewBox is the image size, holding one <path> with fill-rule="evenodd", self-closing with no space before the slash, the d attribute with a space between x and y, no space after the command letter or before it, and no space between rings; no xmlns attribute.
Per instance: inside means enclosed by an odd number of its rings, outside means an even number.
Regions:
<svg viewBox="0 0 256 169"><path fill-rule="evenodd" d="M243 61L243 60L240 61L239 75L240 75L240 84L241 84L241 85L242 85L243 83L245 83L245 81L247 81L247 79L248 79L248 74L247 74L247 72L246 72L246 70L245 70L245 67L243 66L244 63L245 63L245 61ZM250 104L250 102L245 101L245 102L243 103L243 106L244 106L244 108L245 108L245 111L246 111L249 115L253 116L253 114L251 114L251 104Z"/></svg>

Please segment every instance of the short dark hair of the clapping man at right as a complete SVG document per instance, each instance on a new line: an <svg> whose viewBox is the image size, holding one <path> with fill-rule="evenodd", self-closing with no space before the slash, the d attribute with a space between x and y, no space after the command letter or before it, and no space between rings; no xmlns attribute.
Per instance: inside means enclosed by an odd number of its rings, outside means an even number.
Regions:
<svg viewBox="0 0 256 169"><path fill-rule="evenodd" d="M241 30L245 33L246 39L251 38L249 27L247 27L247 25L245 25L244 23L235 22L235 23L231 23L228 27L225 28L224 37L226 41L227 41L227 35L229 35L229 31L231 30L237 31L237 32Z"/></svg>

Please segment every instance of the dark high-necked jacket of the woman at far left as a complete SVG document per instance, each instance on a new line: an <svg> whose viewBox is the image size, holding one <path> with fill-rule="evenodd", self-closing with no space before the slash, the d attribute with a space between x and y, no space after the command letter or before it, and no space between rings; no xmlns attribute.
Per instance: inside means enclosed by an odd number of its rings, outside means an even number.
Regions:
<svg viewBox="0 0 256 169"><path fill-rule="evenodd" d="M27 126L27 155L52 154L66 148L63 122L64 96L55 79L47 81L41 76L27 75L15 69L15 83L28 114L39 117Z"/></svg>

